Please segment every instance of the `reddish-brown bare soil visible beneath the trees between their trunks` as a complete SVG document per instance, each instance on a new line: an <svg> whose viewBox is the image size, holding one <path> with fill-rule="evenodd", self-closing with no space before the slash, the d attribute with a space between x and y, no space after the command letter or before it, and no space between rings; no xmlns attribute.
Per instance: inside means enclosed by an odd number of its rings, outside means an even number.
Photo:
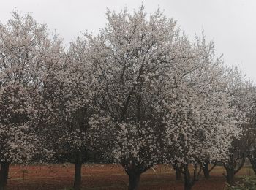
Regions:
<svg viewBox="0 0 256 190"><path fill-rule="evenodd" d="M222 167L216 167L211 172L211 179L203 177L195 184L195 190L219 190L225 189L225 178ZM10 176L7 189L10 190L53 190L69 189L72 186L74 166L72 164L35 165L10 167ZM253 175L250 168L243 168L238 173L241 175ZM128 177L120 165L114 164L85 164L82 169L83 189L121 190L127 189ZM170 167L157 166L155 170L148 170L141 176L140 188L159 190L180 190L183 183L175 180L175 175Z"/></svg>

